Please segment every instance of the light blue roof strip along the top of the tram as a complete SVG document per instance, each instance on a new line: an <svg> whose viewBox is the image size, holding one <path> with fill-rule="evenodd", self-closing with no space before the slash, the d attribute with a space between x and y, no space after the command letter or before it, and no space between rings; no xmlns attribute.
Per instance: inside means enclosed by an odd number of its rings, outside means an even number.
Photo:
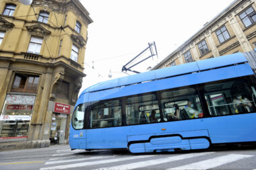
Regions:
<svg viewBox="0 0 256 170"><path fill-rule="evenodd" d="M145 81L154 81L156 79L165 79L167 77L175 77L179 75L185 75L185 74L205 71L209 69L216 69L219 67L235 65L243 62L247 62L247 58L245 58L243 53L238 52L234 54L228 54L226 56L218 56L216 58L209 58L205 60L197 60L194 62L189 62L183 65L177 65L174 67L166 67L164 69L157 69L154 71L138 73L136 75L129 75L126 77L119 77L117 79L102 81L100 83L97 83L96 85L92 85L91 87L88 87L82 93L90 93L92 91L101 91L104 89L111 89L111 88L121 87L125 85L132 85L135 83L142 83Z"/></svg>

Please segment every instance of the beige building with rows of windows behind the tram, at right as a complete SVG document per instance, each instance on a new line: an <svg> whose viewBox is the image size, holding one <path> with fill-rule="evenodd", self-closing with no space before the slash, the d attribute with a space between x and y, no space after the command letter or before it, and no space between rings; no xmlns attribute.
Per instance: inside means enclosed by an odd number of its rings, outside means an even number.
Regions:
<svg viewBox="0 0 256 170"><path fill-rule="evenodd" d="M256 48L256 1L236 0L153 69Z"/></svg>

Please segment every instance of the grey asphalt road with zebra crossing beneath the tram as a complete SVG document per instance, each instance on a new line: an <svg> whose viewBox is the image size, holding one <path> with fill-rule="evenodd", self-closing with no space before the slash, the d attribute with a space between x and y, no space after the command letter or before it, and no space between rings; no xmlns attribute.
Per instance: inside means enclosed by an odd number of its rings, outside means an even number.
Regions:
<svg viewBox="0 0 256 170"><path fill-rule="evenodd" d="M0 152L0 169L255 169L256 148L181 153L70 151L68 145Z"/></svg>

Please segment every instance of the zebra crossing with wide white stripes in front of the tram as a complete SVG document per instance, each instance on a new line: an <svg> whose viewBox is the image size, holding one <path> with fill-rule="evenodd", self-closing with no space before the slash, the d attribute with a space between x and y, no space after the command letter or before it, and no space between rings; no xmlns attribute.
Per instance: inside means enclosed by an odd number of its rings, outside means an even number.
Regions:
<svg viewBox="0 0 256 170"><path fill-rule="evenodd" d="M94 155L84 151L57 151L40 170L53 169L214 169L228 163L243 161L255 155L216 152L172 153L158 155ZM253 167L252 169L255 169Z"/></svg>

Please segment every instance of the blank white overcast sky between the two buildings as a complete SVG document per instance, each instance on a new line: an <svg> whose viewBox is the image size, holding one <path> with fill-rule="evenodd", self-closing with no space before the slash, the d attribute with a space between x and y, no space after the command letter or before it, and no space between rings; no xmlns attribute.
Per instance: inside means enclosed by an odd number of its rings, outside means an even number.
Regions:
<svg viewBox="0 0 256 170"><path fill-rule="evenodd" d="M154 56L134 70L143 72L154 67L233 0L80 1L94 21L88 27L84 65L87 76L82 91L110 79L110 71L111 79L126 76L121 73L123 65L146 49L149 42L156 42L158 58ZM141 57L147 56L149 51Z"/></svg>

